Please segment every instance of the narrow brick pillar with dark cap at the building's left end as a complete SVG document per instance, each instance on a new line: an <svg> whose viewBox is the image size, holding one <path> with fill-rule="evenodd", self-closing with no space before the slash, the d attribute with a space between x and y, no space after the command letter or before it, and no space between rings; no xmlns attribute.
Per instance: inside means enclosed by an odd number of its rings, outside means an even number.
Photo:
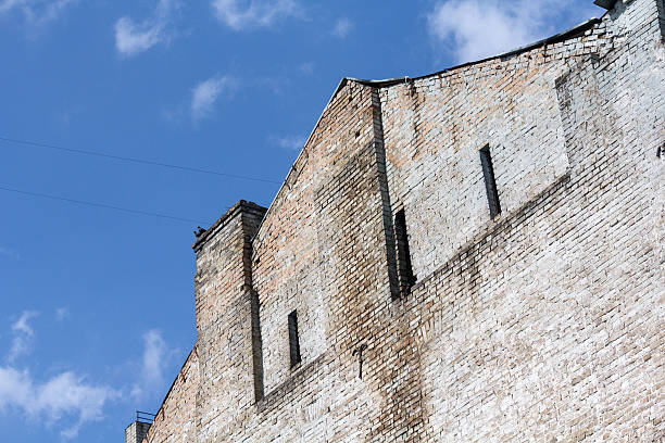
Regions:
<svg viewBox="0 0 665 443"><path fill-rule="evenodd" d="M195 244L197 252L197 429L224 441L225 425L254 402L250 239L265 210L236 204Z"/></svg>

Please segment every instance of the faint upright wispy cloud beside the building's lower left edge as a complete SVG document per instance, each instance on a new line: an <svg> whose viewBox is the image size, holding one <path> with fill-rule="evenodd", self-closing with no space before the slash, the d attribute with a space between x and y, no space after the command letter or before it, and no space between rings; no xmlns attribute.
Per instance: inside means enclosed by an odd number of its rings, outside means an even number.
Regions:
<svg viewBox="0 0 665 443"><path fill-rule="evenodd" d="M143 355L140 362L141 383L135 385L131 393L135 397L156 392L164 388L164 368L178 354L170 347L158 329L151 329L143 334Z"/></svg>

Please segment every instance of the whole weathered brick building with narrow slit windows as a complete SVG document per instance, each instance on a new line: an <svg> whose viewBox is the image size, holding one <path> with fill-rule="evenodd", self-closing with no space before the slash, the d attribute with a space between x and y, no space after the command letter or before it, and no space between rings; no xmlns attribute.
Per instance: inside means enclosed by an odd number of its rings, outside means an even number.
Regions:
<svg viewBox="0 0 665 443"><path fill-rule="evenodd" d="M198 237L198 341L142 441L663 441L665 8L597 2L343 79L271 207Z"/></svg>

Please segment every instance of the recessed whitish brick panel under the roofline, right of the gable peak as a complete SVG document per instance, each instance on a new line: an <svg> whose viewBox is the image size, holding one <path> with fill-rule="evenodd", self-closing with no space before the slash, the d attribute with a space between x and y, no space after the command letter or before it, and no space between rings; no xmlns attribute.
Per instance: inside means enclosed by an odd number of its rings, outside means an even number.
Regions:
<svg viewBox="0 0 665 443"><path fill-rule="evenodd" d="M657 41L655 28L644 26L656 17L654 5L630 12L619 2L581 36L381 91L391 198L421 233L412 239L416 276L429 275L488 228L478 155L485 144L504 211L520 207L565 174L554 83L585 56L623 46L628 24L648 34L633 31L632 42Z"/></svg>

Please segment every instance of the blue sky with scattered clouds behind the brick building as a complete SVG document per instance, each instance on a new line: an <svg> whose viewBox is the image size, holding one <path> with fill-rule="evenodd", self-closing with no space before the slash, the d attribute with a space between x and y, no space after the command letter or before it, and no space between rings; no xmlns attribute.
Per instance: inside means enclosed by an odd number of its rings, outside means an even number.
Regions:
<svg viewBox="0 0 665 443"><path fill-rule="evenodd" d="M342 77L424 75L602 12L0 0L0 441L120 442L134 410L156 412L196 340L192 229L269 205Z"/></svg>

